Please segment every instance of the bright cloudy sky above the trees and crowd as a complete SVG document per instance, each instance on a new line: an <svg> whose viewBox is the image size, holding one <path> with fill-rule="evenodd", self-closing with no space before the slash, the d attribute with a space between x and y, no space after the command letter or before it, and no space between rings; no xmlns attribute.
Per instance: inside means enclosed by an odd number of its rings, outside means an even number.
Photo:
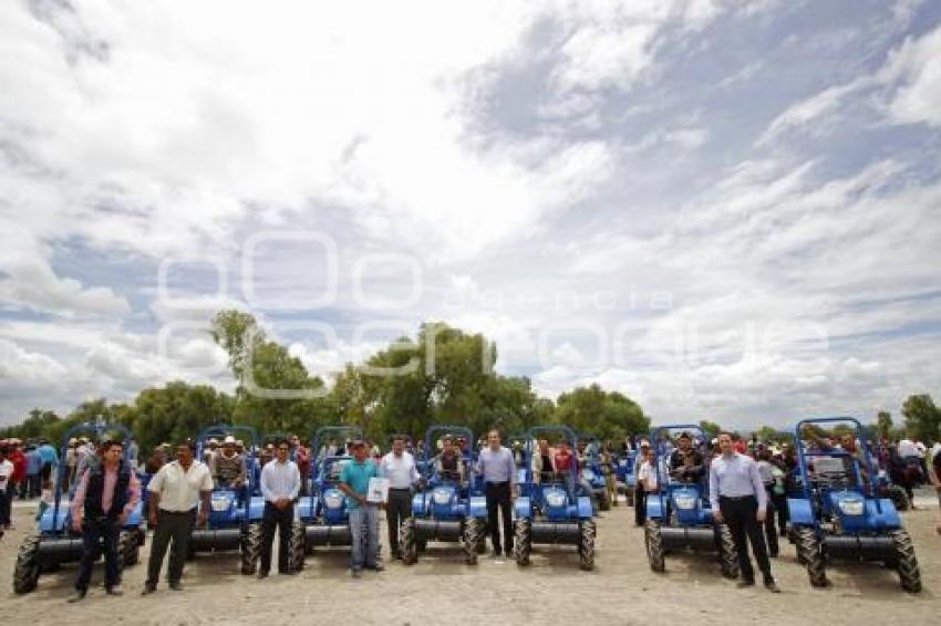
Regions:
<svg viewBox="0 0 941 626"><path fill-rule="evenodd" d="M0 3L0 424L423 321L656 422L941 383L941 2Z"/></svg>

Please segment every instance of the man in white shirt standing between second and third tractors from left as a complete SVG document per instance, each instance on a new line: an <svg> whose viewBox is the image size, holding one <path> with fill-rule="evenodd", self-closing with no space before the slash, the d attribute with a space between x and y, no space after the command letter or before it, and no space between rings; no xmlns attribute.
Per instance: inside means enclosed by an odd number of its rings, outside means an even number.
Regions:
<svg viewBox="0 0 941 626"><path fill-rule="evenodd" d="M291 447L287 439L278 441L273 461L265 463L259 480L261 495L265 498L265 513L261 517L261 563L258 577L268 576L271 570L271 543L275 541L275 528L278 529L278 573L293 574L289 566L291 524L294 521L294 500L301 490L301 474L298 466L290 460Z"/></svg>

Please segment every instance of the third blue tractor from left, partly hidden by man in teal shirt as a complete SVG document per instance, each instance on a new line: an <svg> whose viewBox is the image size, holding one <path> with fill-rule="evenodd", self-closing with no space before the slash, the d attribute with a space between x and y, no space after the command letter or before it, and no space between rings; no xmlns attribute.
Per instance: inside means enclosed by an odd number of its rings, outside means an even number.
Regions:
<svg viewBox="0 0 941 626"><path fill-rule="evenodd" d="M291 533L291 565L296 572L303 568L304 556L313 554L314 547L353 543L347 498L340 491L340 470L352 458L347 453L345 441L362 436L358 426L324 426L313 434L310 495L298 502L298 519Z"/></svg>

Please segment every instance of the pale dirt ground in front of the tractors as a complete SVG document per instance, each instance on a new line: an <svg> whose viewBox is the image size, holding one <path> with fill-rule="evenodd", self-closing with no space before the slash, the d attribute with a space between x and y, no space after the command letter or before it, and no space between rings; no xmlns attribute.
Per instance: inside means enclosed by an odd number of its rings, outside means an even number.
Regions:
<svg viewBox="0 0 941 626"><path fill-rule="evenodd" d="M581 572L575 547L534 549L532 564L519 570L510 560L482 557L461 563L454 547L431 544L417 565L390 563L383 573L350 577L347 552L320 551L292 577L265 581L242 577L238 556L220 553L187 564L185 591L142 597L149 542L142 563L125 571L123 597L110 597L95 584L80 605L65 602L74 565L43 575L39 588L12 593L17 549L31 528L32 508L18 505L18 530L0 541L0 598L3 616L15 624L526 624L559 620L598 624L694 623L851 624L904 616L907 624L937 623L941 615L941 536L939 512L929 492L921 509L904 514L914 538L924 591L902 593L898 578L875 564L839 564L829 571L830 588L810 587L794 547L784 543L773 563L783 593L761 585L738 590L720 576L709 556L668 556L668 572L653 574L647 564L643 533L633 526L633 509L623 505L598 522L594 572ZM384 530L384 525L383 525ZM101 580L101 565L95 578ZM783 622L787 620L787 622Z"/></svg>

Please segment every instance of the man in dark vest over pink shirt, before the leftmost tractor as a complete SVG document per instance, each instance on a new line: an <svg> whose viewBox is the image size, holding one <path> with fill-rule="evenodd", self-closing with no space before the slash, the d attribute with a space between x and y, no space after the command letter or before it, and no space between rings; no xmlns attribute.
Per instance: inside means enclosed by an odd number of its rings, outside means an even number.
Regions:
<svg viewBox="0 0 941 626"><path fill-rule="evenodd" d="M75 595L69 602L84 599L89 593L92 564L104 550L104 588L108 595L122 595L123 555L117 538L131 512L141 501L141 482L123 459L121 441L107 441L102 458L91 459L70 504L72 530L82 533L82 562L75 581Z"/></svg>

